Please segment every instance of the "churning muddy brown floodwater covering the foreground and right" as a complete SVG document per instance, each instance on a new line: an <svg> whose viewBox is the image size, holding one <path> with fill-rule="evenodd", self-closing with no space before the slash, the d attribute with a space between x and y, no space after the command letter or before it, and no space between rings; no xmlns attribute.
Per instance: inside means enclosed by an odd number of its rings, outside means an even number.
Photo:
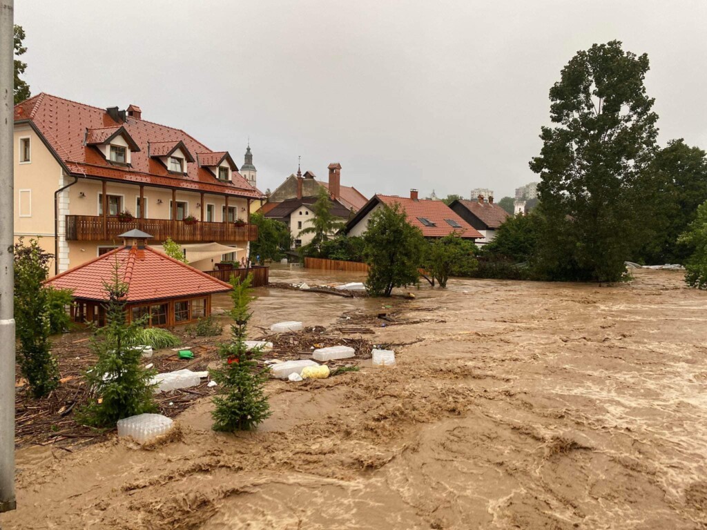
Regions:
<svg viewBox="0 0 707 530"><path fill-rule="evenodd" d="M669 271L628 285L450 281L392 303L419 342L392 369L271 382L256 432L112 438L18 452L17 529L707 527L707 293ZM274 271L274 281L350 281ZM259 290L254 324L330 326L391 302ZM227 300L221 300L223 307ZM420 310L428 311L420 311Z"/></svg>

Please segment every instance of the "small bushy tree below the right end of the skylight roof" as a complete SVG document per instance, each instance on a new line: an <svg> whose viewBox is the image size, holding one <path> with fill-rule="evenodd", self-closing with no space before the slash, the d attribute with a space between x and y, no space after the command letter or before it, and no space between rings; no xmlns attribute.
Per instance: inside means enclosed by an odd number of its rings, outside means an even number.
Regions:
<svg viewBox="0 0 707 530"><path fill-rule="evenodd" d="M447 287L450 276L472 276L477 268L476 245L463 240L452 232L428 242L424 251L425 270L439 283L441 288Z"/></svg>

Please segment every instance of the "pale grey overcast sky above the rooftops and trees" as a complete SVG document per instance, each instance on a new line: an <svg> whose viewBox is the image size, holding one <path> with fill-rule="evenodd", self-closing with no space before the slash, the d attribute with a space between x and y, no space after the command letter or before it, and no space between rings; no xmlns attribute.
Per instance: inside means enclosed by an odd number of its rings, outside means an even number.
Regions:
<svg viewBox="0 0 707 530"><path fill-rule="evenodd" d="M707 148L705 0L15 0L15 19L33 94L135 103L239 166L250 136L263 191L301 155L366 196L512 195L562 67L612 39L648 53L660 143Z"/></svg>

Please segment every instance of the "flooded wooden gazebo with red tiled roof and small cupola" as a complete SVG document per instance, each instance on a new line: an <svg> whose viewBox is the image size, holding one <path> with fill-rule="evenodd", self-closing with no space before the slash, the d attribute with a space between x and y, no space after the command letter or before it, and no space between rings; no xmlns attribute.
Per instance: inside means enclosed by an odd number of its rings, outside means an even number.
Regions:
<svg viewBox="0 0 707 530"><path fill-rule="evenodd" d="M141 230L118 237L124 239L124 246L47 281L52 287L74 291L74 322L105 325L103 283L110 283L116 264L121 281L128 285L128 321L147 315L148 326L188 324L209 316L211 295L231 289L230 284L148 247L146 240L152 236ZM128 240L133 240L131 245Z"/></svg>

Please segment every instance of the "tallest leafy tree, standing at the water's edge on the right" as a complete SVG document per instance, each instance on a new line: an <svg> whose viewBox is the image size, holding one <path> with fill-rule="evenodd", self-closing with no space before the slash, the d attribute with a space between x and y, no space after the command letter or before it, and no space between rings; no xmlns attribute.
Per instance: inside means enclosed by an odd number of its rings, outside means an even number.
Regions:
<svg viewBox="0 0 707 530"><path fill-rule="evenodd" d="M550 89L554 126L530 168L539 173L537 259L556 280L618 281L645 239L655 153L648 56L621 42L578 52Z"/></svg>

